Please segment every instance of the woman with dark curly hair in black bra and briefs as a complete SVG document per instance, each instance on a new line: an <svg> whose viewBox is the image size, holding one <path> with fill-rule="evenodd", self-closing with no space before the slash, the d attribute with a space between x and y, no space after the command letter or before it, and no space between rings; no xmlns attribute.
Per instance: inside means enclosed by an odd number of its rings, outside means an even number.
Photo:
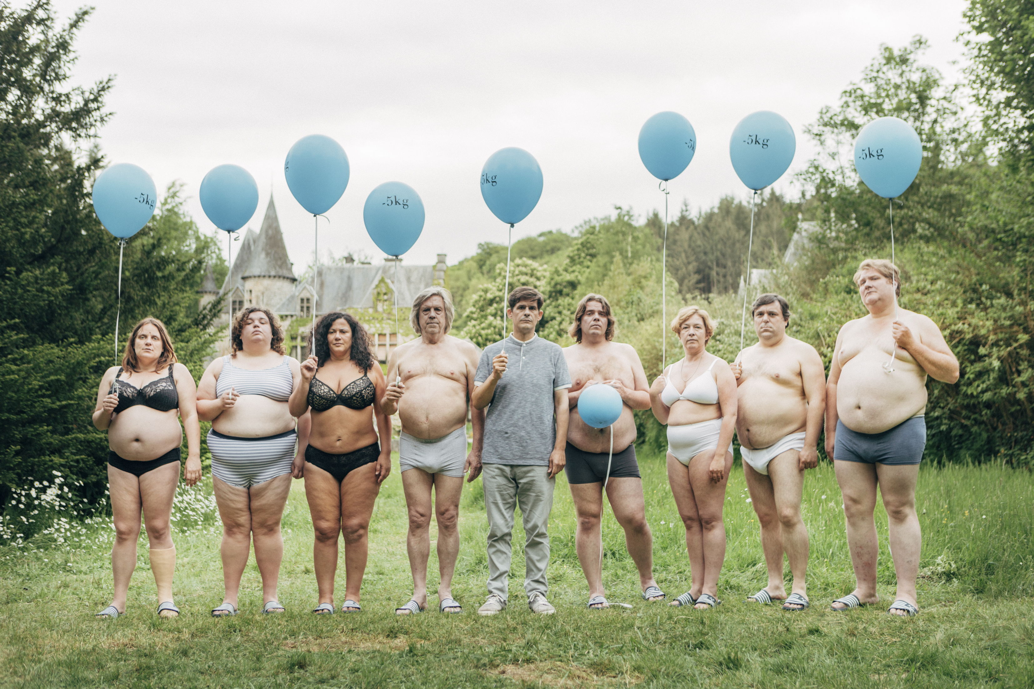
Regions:
<svg viewBox="0 0 1034 689"><path fill-rule="evenodd" d="M329 313L321 318L310 351L313 343L314 352L302 362L301 381L288 403L295 416L311 410L305 457L299 452L292 474L305 477L315 529L312 556L320 601L312 612L334 612L337 542L343 534L341 612L357 613L366 570L366 531L381 483L391 471L391 420L373 404L384 396L386 382L366 330L352 315Z"/></svg>

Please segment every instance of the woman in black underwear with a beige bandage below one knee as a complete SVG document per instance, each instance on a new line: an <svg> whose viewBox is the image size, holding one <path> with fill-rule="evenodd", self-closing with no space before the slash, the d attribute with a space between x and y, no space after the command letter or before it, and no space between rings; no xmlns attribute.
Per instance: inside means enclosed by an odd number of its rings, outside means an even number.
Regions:
<svg viewBox="0 0 1034 689"><path fill-rule="evenodd" d="M93 425L108 431L108 484L115 521L112 572L115 597L97 613L114 620L126 610L129 578L136 566L141 512L147 520L151 571L158 589L158 615L179 617L173 602L176 546L169 533L173 496L180 478L180 445L187 434L185 480L201 478L201 429L190 372L176 363L176 352L160 320L136 323L126 343L122 366L104 373L97 389ZM179 416L179 418L177 418Z"/></svg>

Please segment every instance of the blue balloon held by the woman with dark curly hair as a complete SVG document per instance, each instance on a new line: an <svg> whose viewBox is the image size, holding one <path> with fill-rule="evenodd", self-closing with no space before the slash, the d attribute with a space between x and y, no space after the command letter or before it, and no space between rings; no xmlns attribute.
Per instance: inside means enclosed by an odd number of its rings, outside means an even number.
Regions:
<svg viewBox="0 0 1034 689"><path fill-rule="evenodd" d="M304 136L287 151L283 176L302 208L320 215L329 211L348 186L348 156L330 136Z"/></svg>

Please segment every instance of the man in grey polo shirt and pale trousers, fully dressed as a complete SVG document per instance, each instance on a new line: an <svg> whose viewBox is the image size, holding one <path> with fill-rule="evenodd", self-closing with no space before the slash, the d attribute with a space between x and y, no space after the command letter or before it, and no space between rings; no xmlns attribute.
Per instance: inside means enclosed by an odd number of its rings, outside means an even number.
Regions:
<svg viewBox="0 0 1034 689"><path fill-rule="evenodd" d="M481 452L488 511L488 599L479 615L507 606L514 507L524 525L524 591L533 613L556 610L546 600L546 566L554 476L564 470L571 376L564 350L535 334L542 294L517 287L507 300L513 334L485 347L470 405L488 407Z"/></svg>

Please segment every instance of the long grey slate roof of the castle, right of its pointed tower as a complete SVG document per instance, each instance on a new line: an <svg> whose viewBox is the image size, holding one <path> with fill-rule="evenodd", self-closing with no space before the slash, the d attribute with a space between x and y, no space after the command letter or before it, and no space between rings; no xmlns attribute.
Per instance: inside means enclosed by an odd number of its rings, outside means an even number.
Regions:
<svg viewBox="0 0 1034 689"><path fill-rule="evenodd" d="M295 285L295 291L276 310L281 314L298 313L298 297L302 291L316 292L316 313L330 313L344 309L373 308L373 292L384 277L388 288L395 288L395 261L379 265L351 263L346 265L321 265L317 275L318 290L313 289L308 278ZM433 265L398 265L398 305L405 308L414 297L434 280Z"/></svg>

